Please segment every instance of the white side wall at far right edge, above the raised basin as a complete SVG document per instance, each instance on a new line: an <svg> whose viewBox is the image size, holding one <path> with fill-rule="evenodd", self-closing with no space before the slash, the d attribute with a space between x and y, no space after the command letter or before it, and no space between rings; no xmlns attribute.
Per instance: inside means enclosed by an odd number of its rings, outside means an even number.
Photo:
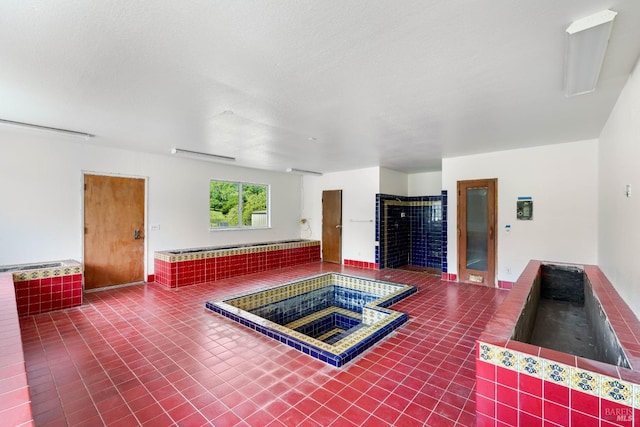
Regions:
<svg viewBox="0 0 640 427"><path fill-rule="evenodd" d="M640 70L623 89L599 141L598 263L640 318ZM626 186L631 195L626 197Z"/></svg>

